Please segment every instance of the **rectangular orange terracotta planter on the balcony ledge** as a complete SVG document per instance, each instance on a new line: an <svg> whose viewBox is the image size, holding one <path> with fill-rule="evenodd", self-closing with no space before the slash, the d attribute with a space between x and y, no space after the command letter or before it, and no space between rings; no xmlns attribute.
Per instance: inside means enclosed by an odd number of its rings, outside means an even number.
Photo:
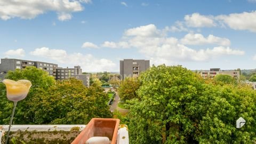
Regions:
<svg viewBox="0 0 256 144"><path fill-rule="evenodd" d="M71 144L84 144L91 137L108 137L116 144L119 122L115 118L92 118Z"/></svg>

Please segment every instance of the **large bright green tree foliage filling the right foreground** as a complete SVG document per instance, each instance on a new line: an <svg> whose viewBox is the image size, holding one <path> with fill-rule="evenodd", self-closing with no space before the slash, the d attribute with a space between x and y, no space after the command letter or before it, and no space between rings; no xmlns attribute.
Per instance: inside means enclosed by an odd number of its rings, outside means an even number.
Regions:
<svg viewBox="0 0 256 144"><path fill-rule="evenodd" d="M254 103L249 86L205 82L181 66L151 67L140 76L129 112L131 143L253 143ZM246 125L236 129L239 117Z"/></svg>

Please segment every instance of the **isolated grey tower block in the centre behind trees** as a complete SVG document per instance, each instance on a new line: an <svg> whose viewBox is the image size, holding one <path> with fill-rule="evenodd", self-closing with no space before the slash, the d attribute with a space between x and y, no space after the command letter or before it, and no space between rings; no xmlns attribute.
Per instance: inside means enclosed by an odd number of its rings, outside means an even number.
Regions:
<svg viewBox="0 0 256 144"><path fill-rule="evenodd" d="M120 60L121 79L125 77L138 77L142 71L149 68L149 60Z"/></svg>

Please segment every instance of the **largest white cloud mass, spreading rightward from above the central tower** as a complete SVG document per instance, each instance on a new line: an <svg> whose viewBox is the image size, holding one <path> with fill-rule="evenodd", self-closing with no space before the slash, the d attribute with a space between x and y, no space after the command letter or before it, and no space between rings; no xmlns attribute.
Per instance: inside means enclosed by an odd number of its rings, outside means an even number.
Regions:
<svg viewBox="0 0 256 144"><path fill-rule="evenodd" d="M213 35L204 37L202 34L188 34L182 39L168 37L166 30L157 29L155 25L140 26L124 31L127 45L136 47L140 53L155 65L165 63L177 64L179 61L209 61L222 55L244 55L244 51L231 49L230 41ZM192 49L186 44L217 44L212 49ZM108 42L111 47L117 43Z"/></svg>

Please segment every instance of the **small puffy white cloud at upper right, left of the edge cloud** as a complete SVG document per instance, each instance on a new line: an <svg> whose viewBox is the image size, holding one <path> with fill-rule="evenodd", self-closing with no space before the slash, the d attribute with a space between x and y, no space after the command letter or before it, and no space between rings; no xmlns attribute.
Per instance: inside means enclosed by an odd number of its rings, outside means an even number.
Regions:
<svg viewBox="0 0 256 144"><path fill-rule="evenodd" d="M185 15L185 22L189 27L214 27L215 23L212 16L205 16L199 13Z"/></svg>

